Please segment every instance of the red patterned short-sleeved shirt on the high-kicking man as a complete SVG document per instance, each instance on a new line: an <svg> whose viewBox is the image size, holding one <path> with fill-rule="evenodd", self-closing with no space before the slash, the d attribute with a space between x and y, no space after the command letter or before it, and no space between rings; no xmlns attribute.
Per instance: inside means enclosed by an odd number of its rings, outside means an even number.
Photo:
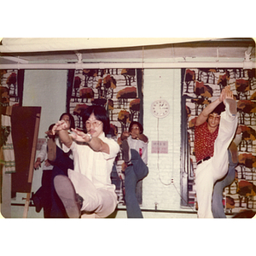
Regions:
<svg viewBox="0 0 256 256"><path fill-rule="evenodd" d="M196 162L203 160L207 156L213 156L214 142L218 137L218 128L214 132L210 132L207 122L202 125L195 126L195 159Z"/></svg>

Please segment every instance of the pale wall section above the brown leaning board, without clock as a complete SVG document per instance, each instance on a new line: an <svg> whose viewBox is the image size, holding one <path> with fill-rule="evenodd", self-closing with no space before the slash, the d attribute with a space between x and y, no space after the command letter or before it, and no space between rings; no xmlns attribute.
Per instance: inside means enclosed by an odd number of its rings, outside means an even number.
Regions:
<svg viewBox="0 0 256 256"><path fill-rule="evenodd" d="M26 70L23 106L41 106L39 138L66 112L67 70Z"/></svg>

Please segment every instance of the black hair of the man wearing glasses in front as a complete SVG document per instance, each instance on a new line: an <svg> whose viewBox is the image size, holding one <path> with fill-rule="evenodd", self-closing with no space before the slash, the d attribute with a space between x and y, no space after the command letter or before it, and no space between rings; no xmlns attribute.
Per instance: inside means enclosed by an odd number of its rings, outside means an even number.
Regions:
<svg viewBox="0 0 256 256"><path fill-rule="evenodd" d="M105 132L105 135L108 134L108 131L110 129L110 121L108 117L107 110L98 105L92 105L84 110L84 113L82 113L83 123L85 125L85 122L90 118L90 114L94 113L95 118L99 121L102 121L103 123L103 131ZM86 128L84 127L85 131Z"/></svg>

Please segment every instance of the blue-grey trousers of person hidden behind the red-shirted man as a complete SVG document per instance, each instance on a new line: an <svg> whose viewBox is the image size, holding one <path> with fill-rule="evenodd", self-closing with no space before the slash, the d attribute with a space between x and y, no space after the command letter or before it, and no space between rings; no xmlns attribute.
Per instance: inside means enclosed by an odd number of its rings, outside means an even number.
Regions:
<svg viewBox="0 0 256 256"><path fill-rule="evenodd" d="M222 203L223 190L225 187L233 183L236 176L235 167L237 163L233 163L230 150L228 150L228 152L229 152L229 164L230 164L229 170L227 174L222 179L218 180L213 187L213 193L212 193L213 218L226 218L223 203Z"/></svg>

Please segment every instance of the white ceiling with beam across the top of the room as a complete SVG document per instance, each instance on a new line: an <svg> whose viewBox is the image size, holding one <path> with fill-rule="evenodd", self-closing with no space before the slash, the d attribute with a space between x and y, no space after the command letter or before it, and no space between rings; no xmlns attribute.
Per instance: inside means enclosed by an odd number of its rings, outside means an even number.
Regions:
<svg viewBox="0 0 256 256"><path fill-rule="evenodd" d="M0 69L18 62L20 67L29 63L77 61L188 63L224 59L242 62L246 52L254 67L253 38L3 38Z"/></svg>

